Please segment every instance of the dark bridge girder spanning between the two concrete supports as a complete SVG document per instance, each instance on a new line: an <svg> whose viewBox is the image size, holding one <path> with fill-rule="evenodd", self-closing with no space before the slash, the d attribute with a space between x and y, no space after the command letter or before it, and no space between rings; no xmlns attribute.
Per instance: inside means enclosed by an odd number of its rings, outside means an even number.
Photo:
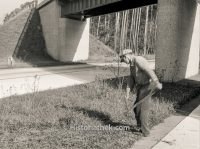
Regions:
<svg viewBox="0 0 200 149"><path fill-rule="evenodd" d="M158 0L62 0L61 16L79 19L157 4Z"/></svg>

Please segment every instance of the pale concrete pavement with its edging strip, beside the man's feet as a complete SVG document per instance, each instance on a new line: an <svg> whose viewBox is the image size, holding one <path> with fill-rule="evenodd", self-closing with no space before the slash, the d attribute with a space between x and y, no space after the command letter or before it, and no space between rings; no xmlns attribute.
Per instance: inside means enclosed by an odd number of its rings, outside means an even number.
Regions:
<svg viewBox="0 0 200 149"><path fill-rule="evenodd" d="M199 149L200 96L151 130L131 149Z"/></svg>

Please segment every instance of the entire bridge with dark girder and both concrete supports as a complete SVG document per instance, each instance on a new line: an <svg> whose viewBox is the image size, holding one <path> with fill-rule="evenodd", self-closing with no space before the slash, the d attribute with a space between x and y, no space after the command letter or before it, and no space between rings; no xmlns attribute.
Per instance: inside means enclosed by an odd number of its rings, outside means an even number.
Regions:
<svg viewBox="0 0 200 149"><path fill-rule="evenodd" d="M158 5L156 73L178 81L199 71L200 12L196 0L44 0L38 6L47 52L60 61L88 58L89 17Z"/></svg>

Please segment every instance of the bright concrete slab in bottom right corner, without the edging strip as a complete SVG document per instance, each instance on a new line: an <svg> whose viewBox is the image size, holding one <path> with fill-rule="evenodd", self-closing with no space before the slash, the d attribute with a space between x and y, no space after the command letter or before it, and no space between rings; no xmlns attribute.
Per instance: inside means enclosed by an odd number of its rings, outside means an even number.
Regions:
<svg viewBox="0 0 200 149"><path fill-rule="evenodd" d="M190 104L197 107L152 149L200 149L200 97ZM180 113L187 114L191 106Z"/></svg>

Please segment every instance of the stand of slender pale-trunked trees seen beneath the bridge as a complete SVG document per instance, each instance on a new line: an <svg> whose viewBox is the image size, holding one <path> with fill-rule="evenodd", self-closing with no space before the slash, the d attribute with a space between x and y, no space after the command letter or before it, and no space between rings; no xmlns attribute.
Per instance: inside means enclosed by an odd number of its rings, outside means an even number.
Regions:
<svg viewBox="0 0 200 149"><path fill-rule="evenodd" d="M90 32L119 52L130 48L137 54L154 54L157 5L91 18Z"/></svg>

